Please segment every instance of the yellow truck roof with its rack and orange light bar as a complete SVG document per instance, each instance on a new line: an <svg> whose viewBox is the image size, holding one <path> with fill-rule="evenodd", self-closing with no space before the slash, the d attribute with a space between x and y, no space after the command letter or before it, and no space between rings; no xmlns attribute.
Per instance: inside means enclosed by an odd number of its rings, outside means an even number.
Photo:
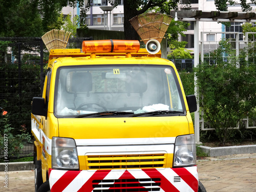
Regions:
<svg viewBox="0 0 256 192"><path fill-rule="evenodd" d="M159 45L146 45L140 48L138 40L84 40L82 49L54 49L50 50L48 68L53 66L74 65L120 65L120 64L169 64L161 58ZM56 60L60 62L56 62ZM95 60L97 60L95 62ZM146 61L146 62L145 62Z"/></svg>

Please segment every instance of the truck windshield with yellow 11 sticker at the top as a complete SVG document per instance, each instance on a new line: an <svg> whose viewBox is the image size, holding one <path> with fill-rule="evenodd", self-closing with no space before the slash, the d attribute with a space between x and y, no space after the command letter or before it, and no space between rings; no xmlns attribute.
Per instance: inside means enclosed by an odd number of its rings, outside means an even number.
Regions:
<svg viewBox="0 0 256 192"><path fill-rule="evenodd" d="M60 67L55 88L58 117L185 113L175 71L169 66Z"/></svg>

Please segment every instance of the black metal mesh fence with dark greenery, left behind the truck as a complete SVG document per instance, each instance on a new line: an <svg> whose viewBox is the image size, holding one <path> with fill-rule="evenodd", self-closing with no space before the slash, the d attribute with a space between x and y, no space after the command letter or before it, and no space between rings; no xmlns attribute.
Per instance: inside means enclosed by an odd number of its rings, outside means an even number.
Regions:
<svg viewBox="0 0 256 192"><path fill-rule="evenodd" d="M83 40L91 38L70 38L67 48L80 49ZM0 109L8 112L13 135L24 126L31 132L31 101L42 94L48 57L40 37L0 37ZM0 133L3 129L0 120ZM2 146L0 143L0 156L4 153ZM33 141L25 143L20 156L31 156L33 151Z"/></svg>

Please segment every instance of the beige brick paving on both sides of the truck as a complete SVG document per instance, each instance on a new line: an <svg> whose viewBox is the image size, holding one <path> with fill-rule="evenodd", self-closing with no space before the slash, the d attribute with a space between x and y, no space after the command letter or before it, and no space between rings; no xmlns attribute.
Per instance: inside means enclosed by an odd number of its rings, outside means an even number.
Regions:
<svg viewBox="0 0 256 192"><path fill-rule="evenodd" d="M208 158L197 164L199 179L207 192L256 191L256 154ZM0 172L1 192L33 192L34 171L8 172L8 188L4 182L5 174Z"/></svg>

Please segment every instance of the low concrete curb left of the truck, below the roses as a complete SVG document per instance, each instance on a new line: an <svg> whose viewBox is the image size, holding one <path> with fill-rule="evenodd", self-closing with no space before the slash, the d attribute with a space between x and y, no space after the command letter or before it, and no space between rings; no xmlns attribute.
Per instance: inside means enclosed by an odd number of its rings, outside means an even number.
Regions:
<svg viewBox="0 0 256 192"><path fill-rule="evenodd" d="M28 162L5 162L0 163L0 172L12 172L14 170L32 170L35 169L35 165L33 164L33 161Z"/></svg>

